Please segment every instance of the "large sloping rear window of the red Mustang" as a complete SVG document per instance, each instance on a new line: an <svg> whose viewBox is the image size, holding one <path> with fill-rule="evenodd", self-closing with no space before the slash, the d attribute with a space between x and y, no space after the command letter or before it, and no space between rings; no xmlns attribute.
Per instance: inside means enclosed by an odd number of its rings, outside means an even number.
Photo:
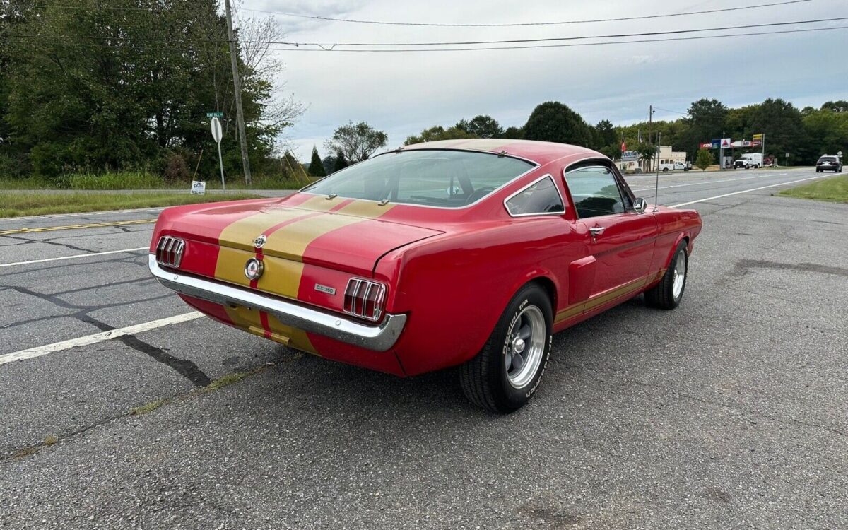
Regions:
<svg viewBox="0 0 848 530"><path fill-rule="evenodd" d="M525 160L491 153L399 151L333 173L304 192L460 208L534 167Z"/></svg>

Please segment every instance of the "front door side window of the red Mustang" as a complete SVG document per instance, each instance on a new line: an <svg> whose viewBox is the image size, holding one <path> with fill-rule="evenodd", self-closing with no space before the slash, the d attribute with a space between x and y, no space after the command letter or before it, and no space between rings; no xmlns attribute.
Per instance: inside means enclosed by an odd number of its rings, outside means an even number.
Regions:
<svg viewBox="0 0 848 530"><path fill-rule="evenodd" d="M577 217L623 214L626 210L616 176L608 168L588 165L566 172L565 177Z"/></svg>

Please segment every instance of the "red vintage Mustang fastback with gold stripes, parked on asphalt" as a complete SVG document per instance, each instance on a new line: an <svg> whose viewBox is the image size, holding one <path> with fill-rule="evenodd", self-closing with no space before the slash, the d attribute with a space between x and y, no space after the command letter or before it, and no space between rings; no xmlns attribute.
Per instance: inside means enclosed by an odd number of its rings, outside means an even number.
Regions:
<svg viewBox="0 0 848 530"><path fill-rule="evenodd" d="M216 321L398 376L460 365L473 403L510 412L553 333L639 293L677 307L700 227L589 149L457 140L287 198L166 209L149 266Z"/></svg>

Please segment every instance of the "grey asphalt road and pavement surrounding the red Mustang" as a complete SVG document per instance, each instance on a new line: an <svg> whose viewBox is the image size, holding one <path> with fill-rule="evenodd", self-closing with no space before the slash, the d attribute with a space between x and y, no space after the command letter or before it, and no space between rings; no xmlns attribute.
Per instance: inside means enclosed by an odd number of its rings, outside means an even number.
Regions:
<svg viewBox="0 0 848 530"><path fill-rule="evenodd" d="M0 528L848 527L848 205L770 196L817 177L662 174L704 217L683 304L555 336L511 416L205 318L0 364ZM0 220L0 362L187 314L158 213Z"/></svg>

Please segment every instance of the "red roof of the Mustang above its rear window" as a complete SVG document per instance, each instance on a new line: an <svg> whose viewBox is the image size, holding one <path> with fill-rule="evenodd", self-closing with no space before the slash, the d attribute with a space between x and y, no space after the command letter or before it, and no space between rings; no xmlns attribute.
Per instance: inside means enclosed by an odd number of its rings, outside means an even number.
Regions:
<svg viewBox="0 0 848 530"><path fill-rule="evenodd" d="M589 148L555 142L536 142L533 140L510 140L508 138L466 138L462 140L439 140L438 142L414 143L405 150L416 149L460 149L483 151L487 153L506 152L511 156L532 160L539 165L548 164L564 158L606 157Z"/></svg>

